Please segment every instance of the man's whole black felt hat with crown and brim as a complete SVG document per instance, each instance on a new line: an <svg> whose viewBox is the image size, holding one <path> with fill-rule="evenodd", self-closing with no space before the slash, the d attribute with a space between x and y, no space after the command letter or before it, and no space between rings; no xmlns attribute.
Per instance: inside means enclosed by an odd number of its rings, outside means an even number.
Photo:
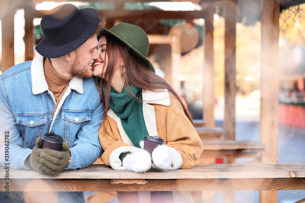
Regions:
<svg viewBox="0 0 305 203"><path fill-rule="evenodd" d="M47 58L68 54L87 41L99 24L99 13L92 8L77 9L73 4L63 4L47 12L40 25L44 38L36 51Z"/></svg>

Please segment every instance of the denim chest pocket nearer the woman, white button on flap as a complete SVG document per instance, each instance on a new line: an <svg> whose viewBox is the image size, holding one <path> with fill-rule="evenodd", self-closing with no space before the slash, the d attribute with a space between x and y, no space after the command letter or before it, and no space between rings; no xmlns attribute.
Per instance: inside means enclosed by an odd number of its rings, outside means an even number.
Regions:
<svg viewBox="0 0 305 203"><path fill-rule="evenodd" d="M77 131L82 125L91 118L91 111L62 111L62 119L64 120L63 138L73 146Z"/></svg>

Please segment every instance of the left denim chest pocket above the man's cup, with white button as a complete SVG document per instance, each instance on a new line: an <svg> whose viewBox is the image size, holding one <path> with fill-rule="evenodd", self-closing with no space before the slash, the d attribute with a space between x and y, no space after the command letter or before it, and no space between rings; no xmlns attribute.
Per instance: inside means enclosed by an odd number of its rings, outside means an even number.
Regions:
<svg viewBox="0 0 305 203"><path fill-rule="evenodd" d="M35 141L41 137L47 122L46 115L18 115L17 125L24 142L24 147L32 149L35 146ZM27 135L27 136L25 136Z"/></svg>

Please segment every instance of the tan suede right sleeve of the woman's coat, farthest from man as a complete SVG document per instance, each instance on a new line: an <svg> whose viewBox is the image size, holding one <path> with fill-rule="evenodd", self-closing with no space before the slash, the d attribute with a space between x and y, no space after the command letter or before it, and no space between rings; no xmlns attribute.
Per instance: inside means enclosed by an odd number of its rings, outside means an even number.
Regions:
<svg viewBox="0 0 305 203"><path fill-rule="evenodd" d="M181 103L170 93L170 106L155 105L155 110L158 134L167 146L180 153L180 168L192 168L203 151L203 144Z"/></svg>

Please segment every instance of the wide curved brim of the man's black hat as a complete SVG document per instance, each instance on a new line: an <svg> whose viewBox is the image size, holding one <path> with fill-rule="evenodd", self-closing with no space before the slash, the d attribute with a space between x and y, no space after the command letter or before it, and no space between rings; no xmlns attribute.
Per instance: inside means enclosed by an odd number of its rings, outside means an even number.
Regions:
<svg viewBox="0 0 305 203"><path fill-rule="evenodd" d="M61 57L65 54L69 54L74 51L82 44L84 44L95 32L97 26L99 25L99 13L92 8L81 9L80 12L84 15L84 17L88 20L88 26L84 30L83 34L74 39L68 44L62 46L52 46L48 44L43 38L35 47L36 51L44 57L47 58L57 58Z"/></svg>

